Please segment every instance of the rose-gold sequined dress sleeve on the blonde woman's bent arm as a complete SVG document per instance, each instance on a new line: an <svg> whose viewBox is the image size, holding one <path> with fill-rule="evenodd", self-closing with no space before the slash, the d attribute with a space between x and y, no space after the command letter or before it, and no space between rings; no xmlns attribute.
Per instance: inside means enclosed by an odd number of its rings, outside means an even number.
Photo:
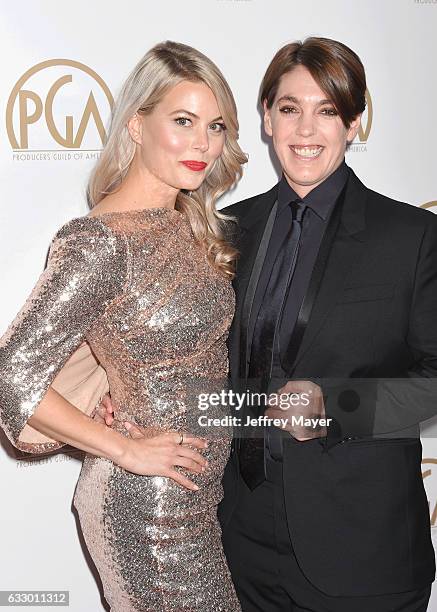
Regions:
<svg viewBox="0 0 437 612"><path fill-rule="evenodd" d="M61 369L76 360L73 353L87 332L123 292L127 265L125 238L97 217L74 219L56 234L45 271L0 339L0 427L16 448L42 453L63 446L27 421L53 382L61 393L74 389L74 381L62 380ZM93 370L98 364L90 363L89 349L77 354L86 360L70 370L104 392L102 371Z"/></svg>

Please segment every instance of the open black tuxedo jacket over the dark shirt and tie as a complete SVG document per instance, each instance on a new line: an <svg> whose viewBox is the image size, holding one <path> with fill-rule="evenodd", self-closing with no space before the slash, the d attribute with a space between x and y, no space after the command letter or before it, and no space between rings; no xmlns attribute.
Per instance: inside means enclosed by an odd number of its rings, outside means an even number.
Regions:
<svg viewBox="0 0 437 612"><path fill-rule="evenodd" d="M238 221L228 237L240 251L228 348L230 378L240 390L247 364L241 340L250 310L247 288L276 194L277 185L222 211ZM371 191L351 171L336 227L332 223L331 218L315 266L319 282L310 283L312 307L303 337L297 351L290 347L295 354L288 374L316 380L322 389L340 380L343 390L358 390L365 422L359 419L358 429L365 434L375 417L375 381L437 377L437 216ZM370 391L363 391L367 380ZM403 404L394 404L395 413L399 408L407 421L411 417L406 424L421 420L415 400L407 394ZM435 561L420 440L349 435L348 428L356 426L349 417L346 407L332 444L291 436L285 441L284 492L299 565L317 588L333 596L425 586L434 579ZM219 506L223 531L240 478L233 451Z"/></svg>

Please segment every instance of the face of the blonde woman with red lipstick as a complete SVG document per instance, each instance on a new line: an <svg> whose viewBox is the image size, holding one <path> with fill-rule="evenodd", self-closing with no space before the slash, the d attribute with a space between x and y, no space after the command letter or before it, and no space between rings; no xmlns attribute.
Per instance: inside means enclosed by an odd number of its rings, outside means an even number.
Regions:
<svg viewBox="0 0 437 612"><path fill-rule="evenodd" d="M128 128L142 172L173 189L198 189L225 143L217 100L201 82L178 83L152 112L135 114Z"/></svg>

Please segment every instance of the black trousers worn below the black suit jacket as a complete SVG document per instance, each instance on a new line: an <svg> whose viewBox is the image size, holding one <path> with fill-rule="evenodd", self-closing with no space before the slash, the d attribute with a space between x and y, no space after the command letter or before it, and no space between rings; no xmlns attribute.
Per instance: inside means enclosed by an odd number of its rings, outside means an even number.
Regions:
<svg viewBox="0 0 437 612"><path fill-rule="evenodd" d="M285 514L282 462L267 457L267 480L250 491L240 478L223 546L243 612L425 612L431 585L375 597L331 597L299 568Z"/></svg>

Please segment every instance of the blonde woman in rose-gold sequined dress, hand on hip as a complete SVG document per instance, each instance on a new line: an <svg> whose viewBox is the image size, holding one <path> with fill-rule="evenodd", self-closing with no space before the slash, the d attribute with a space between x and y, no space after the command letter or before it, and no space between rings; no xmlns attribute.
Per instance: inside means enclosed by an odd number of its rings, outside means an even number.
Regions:
<svg viewBox="0 0 437 612"><path fill-rule="evenodd" d="M58 231L0 343L10 441L34 453L64 443L86 451L74 505L112 612L240 610L216 516L231 435L205 440L191 428L193 389L227 375L237 252L215 202L241 176L237 138L217 67L179 43L151 49L115 106L90 214ZM87 346L118 428L55 390ZM123 421L149 435L132 439Z"/></svg>

